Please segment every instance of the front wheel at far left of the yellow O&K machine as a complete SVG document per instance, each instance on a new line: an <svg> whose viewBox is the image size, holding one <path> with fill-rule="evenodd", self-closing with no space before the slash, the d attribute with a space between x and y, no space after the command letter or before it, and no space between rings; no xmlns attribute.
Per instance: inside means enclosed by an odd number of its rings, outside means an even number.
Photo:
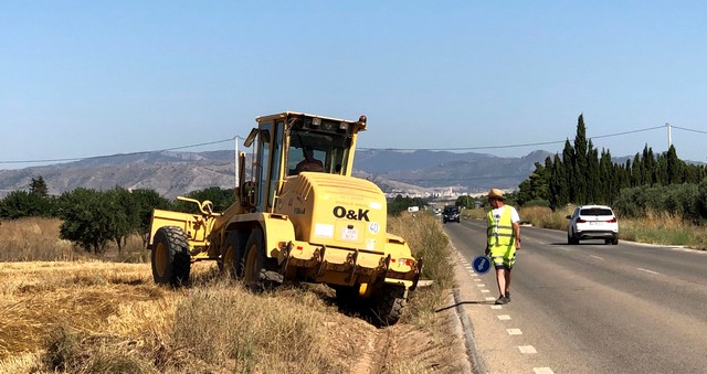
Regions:
<svg viewBox="0 0 707 374"><path fill-rule="evenodd" d="M181 227L165 226L155 233L151 264L152 279L158 285L179 287L189 281L191 255Z"/></svg>

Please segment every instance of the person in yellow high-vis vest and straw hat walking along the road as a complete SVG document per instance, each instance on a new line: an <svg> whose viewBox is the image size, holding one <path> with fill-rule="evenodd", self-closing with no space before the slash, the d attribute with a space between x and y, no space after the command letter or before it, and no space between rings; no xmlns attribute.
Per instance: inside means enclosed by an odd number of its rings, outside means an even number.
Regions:
<svg viewBox="0 0 707 374"><path fill-rule="evenodd" d="M496 268L496 282L500 296L496 303L510 302L510 270L516 263L516 250L520 249L520 216L518 211L504 204L504 192L488 192L492 210L486 214L486 256L490 256Z"/></svg>

